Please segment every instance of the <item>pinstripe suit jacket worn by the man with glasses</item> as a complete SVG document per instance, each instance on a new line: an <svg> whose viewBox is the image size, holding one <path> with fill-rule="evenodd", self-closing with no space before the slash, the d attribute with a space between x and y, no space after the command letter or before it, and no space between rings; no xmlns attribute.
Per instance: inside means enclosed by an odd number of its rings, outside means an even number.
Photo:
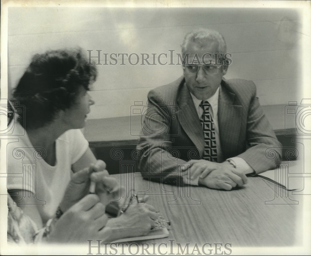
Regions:
<svg viewBox="0 0 311 256"><path fill-rule="evenodd" d="M256 173L274 168L265 157L268 147L281 147L256 97L252 81L221 81L218 99L220 144L225 159L243 158ZM204 135L184 77L151 90L137 148L142 175L181 176L178 165L202 159ZM281 149L279 150L279 157Z"/></svg>

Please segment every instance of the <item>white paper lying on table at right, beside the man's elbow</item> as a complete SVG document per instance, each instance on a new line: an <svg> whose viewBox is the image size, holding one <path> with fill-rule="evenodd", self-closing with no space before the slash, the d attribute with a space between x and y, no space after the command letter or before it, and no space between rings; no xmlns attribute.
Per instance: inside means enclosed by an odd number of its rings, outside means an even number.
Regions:
<svg viewBox="0 0 311 256"><path fill-rule="evenodd" d="M288 175L285 175L285 172L276 173L275 170L268 170L258 174L258 176L270 180L287 190L303 190L304 178L301 175L299 176L303 172L303 161L290 161Z"/></svg>

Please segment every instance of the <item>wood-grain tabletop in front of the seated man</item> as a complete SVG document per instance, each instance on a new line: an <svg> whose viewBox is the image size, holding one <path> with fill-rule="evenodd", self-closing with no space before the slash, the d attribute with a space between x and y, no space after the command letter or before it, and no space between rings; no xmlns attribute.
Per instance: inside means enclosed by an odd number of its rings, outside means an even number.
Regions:
<svg viewBox="0 0 311 256"><path fill-rule="evenodd" d="M169 237L142 243L175 240L183 245L230 243L234 247L293 246L301 241L301 198L277 187L274 200L275 185L260 177L249 177L244 188L222 191L156 183L140 173L113 176L121 182L133 180L138 194L148 194L148 203L171 221Z"/></svg>

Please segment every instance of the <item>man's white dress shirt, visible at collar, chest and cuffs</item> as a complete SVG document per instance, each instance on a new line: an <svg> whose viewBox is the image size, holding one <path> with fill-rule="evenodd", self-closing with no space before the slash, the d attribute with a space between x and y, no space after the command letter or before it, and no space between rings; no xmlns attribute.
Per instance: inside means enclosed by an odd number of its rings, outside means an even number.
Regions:
<svg viewBox="0 0 311 256"><path fill-rule="evenodd" d="M211 105L209 108L209 112L211 114L211 117L213 119L214 123L214 129L215 129L215 139L216 139L216 148L217 148L217 161L219 163L231 159L234 161L236 164L236 169L243 172L244 174L252 173L253 168L248 165L248 163L241 157L230 157L228 159L224 159L222 150L221 150L221 145L220 145L220 138L219 138L219 126L218 126L218 96L219 96L219 91L221 90L221 87L219 86L218 89L216 90L215 94L211 96L208 99L205 99L208 101L208 103ZM194 96L191 92L191 97L193 100L193 104L197 110L197 115L199 119L202 117L203 114L203 109L200 107L200 103L202 100L199 100ZM199 177L195 180L193 180L191 183L193 185L198 184Z"/></svg>

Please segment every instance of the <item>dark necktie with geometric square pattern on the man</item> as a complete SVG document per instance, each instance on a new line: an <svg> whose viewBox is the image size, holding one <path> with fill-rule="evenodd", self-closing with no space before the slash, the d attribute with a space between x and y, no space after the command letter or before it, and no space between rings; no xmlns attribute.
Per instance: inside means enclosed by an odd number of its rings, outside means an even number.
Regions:
<svg viewBox="0 0 311 256"><path fill-rule="evenodd" d="M203 159L211 162L217 162L217 148L215 138L215 128L213 119L209 112L210 104L207 100L202 100L200 107L203 109L203 114L200 119L204 133L204 156Z"/></svg>

